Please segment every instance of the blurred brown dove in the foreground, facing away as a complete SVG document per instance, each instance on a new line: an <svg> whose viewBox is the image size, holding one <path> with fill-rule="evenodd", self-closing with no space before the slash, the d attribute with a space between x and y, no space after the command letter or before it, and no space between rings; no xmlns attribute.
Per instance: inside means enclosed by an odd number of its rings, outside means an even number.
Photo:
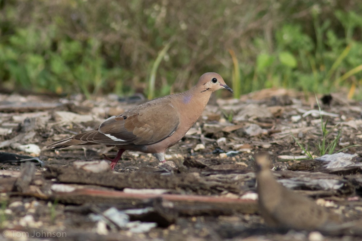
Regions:
<svg viewBox="0 0 362 241"><path fill-rule="evenodd" d="M340 223L341 217L333 211L275 181L269 170L268 154L255 155L255 162L259 211L266 224L272 227L315 230Z"/></svg>

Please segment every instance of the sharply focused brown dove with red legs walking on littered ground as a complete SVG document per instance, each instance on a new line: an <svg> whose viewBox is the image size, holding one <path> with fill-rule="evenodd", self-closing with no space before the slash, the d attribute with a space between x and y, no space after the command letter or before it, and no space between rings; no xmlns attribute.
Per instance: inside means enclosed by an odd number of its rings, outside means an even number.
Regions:
<svg viewBox="0 0 362 241"><path fill-rule="evenodd" d="M119 116L105 120L96 130L77 134L47 146L59 149L72 145L106 144L119 148L111 168L125 150L152 153L164 161L166 150L176 144L201 116L212 92L232 90L217 73L205 73L196 85L185 92L168 95L140 104Z"/></svg>

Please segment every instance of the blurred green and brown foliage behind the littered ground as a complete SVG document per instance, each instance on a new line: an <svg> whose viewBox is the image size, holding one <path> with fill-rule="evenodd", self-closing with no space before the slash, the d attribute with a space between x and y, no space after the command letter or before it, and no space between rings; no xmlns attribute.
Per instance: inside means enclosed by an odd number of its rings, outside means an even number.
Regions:
<svg viewBox="0 0 362 241"><path fill-rule="evenodd" d="M359 0L0 0L0 87L160 96L212 71L235 93L361 97L361 13Z"/></svg>

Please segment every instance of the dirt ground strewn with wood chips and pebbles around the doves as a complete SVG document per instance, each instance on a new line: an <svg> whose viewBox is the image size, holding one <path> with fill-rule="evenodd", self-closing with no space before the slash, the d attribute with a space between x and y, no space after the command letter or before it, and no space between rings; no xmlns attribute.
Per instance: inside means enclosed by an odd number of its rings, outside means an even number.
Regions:
<svg viewBox="0 0 362 241"><path fill-rule="evenodd" d="M344 96L318 96L322 112L314 95L283 89L212 98L168 162L126 151L110 171L102 154L116 148L45 146L96 128L142 96L0 95L0 240L361 240L269 228L257 208L253 154L263 150L287 188L346 221L362 218L362 103ZM328 167L298 145L320 156L320 114L325 145L337 139L332 152L348 147L350 162Z"/></svg>

